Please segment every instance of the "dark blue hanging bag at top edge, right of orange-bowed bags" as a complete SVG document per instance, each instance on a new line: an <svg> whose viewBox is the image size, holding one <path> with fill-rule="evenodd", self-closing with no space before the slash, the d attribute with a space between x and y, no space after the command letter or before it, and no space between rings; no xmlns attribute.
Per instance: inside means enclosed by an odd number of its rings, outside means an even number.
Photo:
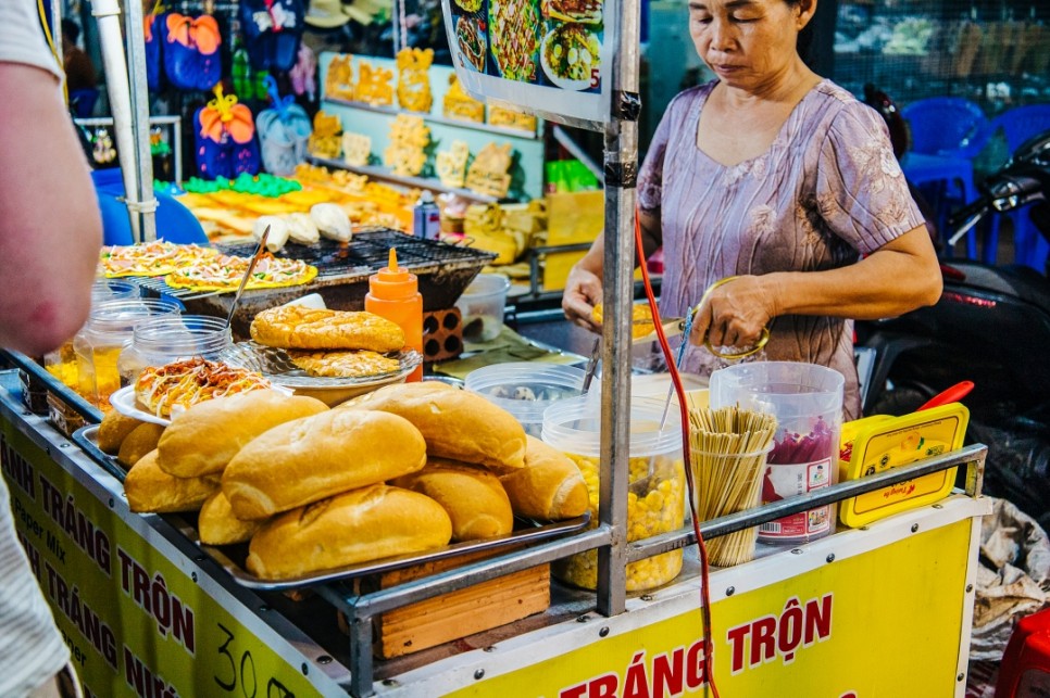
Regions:
<svg viewBox="0 0 1050 698"><path fill-rule="evenodd" d="M302 0L241 0L240 22L253 67L291 69L299 55L304 14Z"/></svg>

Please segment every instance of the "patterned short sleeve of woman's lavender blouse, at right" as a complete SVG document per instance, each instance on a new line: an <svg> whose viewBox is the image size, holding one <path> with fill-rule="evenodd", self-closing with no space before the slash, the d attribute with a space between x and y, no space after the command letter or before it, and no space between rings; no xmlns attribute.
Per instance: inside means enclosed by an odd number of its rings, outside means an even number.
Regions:
<svg viewBox="0 0 1050 698"><path fill-rule="evenodd" d="M874 110L848 104L823 139L816 203L828 227L863 254L924 223L908 191L886 125Z"/></svg>

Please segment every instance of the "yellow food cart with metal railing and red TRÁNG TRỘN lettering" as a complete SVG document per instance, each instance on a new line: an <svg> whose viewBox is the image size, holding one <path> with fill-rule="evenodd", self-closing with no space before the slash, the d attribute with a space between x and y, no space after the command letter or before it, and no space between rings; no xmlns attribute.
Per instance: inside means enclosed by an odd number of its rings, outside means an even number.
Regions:
<svg viewBox="0 0 1050 698"><path fill-rule="evenodd" d="M51 380L49 390L65 390L33 361L9 358ZM255 591L188 537L178 517L130 512L118 477L26 408L17 371L0 373L0 424L18 535L89 695L702 694L695 548L662 588L626 598L623 567L604 567L597 593L554 585L540 613L374 657L377 621L395 609L587 549L617 547L634 561L690 545L691 531L627 545L620 526L601 522L387 588L336 581L293 594ZM979 497L985 453L967 446L703 523L705 536L722 535L930 472L966 473L965 491L938 503L713 571L722 695L962 696L989 509ZM617 594L624 609L604 611ZM483 598L468 614L493 612L502 611Z"/></svg>

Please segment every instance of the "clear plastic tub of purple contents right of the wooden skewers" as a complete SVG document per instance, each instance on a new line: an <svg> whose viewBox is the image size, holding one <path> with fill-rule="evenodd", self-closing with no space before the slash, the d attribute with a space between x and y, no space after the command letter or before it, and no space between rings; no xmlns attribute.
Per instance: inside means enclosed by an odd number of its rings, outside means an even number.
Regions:
<svg viewBox="0 0 1050 698"><path fill-rule="evenodd" d="M834 369L796 361L738 364L711 375L712 408L739 404L776 416L762 504L838 481L845 382ZM824 537L835 528L835 512L829 505L764 523L759 541L796 545Z"/></svg>

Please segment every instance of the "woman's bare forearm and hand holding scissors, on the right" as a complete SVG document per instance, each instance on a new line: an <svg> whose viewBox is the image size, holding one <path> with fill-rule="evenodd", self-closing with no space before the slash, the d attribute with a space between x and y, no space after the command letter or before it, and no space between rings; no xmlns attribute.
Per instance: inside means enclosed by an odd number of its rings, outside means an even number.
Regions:
<svg viewBox="0 0 1050 698"><path fill-rule="evenodd" d="M933 305L941 285L929 233L918 226L849 266L734 279L708 295L689 339L700 344L707 334L713 346L749 346L779 315L892 317Z"/></svg>

